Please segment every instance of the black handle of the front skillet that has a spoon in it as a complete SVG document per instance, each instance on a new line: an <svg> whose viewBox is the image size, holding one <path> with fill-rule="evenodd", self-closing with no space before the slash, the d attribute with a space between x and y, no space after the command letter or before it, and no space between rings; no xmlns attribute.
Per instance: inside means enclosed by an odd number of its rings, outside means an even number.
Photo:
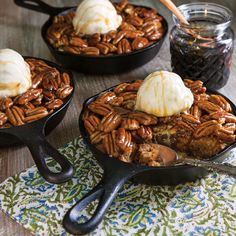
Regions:
<svg viewBox="0 0 236 236"><path fill-rule="evenodd" d="M105 172L101 182L66 213L63 219L63 226L66 231L74 235L84 235L95 230L116 197L117 192L135 174L137 174L137 171L123 166L109 170L109 174ZM78 223L77 218L81 211L96 199L99 200L99 203L93 216L85 223Z"/></svg>

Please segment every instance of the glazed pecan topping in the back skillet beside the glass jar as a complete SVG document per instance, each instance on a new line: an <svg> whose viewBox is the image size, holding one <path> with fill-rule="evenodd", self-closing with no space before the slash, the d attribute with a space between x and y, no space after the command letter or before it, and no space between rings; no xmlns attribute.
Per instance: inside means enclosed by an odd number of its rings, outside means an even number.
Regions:
<svg viewBox="0 0 236 236"><path fill-rule="evenodd" d="M114 3L122 24L107 34L76 35L74 11L55 16L47 39L60 51L91 56L129 53L157 42L163 36L162 17L154 9L136 7L122 0Z"/></svg>

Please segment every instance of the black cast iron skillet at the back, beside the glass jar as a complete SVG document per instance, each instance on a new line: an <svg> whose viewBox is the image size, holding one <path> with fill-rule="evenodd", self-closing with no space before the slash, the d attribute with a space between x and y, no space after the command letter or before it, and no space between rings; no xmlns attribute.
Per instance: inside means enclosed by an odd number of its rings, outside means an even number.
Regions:
<svg viewBox="0 0 236 236"><path fill-rule="evenodd" d="M49 43L46 37L46 33L47 29L52 24L52 19L54 16L66 14L68 13L68 11L75 10L76 9L75 7L56 8L40 0L14 0L14 2L18 6L48 14L50 17L42 26L41 34L52 55L64 67L90 74L122 73L124 71L131 70L141 65L144 65L145 63L147 63L156 56L168 32L167 21L163 18L162 23L164 27L164 34L158 42L150 45L149 47L140 49L135 52L127 53L124 55L110 55L110 56L73 55L55 49Z"/></svg>

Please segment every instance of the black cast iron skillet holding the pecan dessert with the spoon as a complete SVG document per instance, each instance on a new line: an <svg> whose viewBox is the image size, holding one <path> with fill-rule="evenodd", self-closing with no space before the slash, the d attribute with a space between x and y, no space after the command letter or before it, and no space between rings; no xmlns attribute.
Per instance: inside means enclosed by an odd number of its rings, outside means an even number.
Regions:
<svg viewBox="0 0 236 236"><path fill-rule="evenodd" d="M114 87L105 91L113 90ZM104 91L104 92L105 92ZM209 93L222 94L209 91ZM103 168L104 174L102 180L98 185L87 193L80 201L78 201L65 215L63 219L63 226L71 234L87 234L93 231L99 223L102 221L103 216L111 205L117 192L121 189L123 184L130 178L134 182L151 184L151 185L176 185L188 181L194 181L197 178L201 178L207 174L207 171L200 167L193 167L188 165L169 166L169 167L148 167L136 164L128 164L119 161L115 158L109 157L102 153L89 141L89 136L85 130L84 122L82 120L85 108L88 107L92 101L94 101L100 94L88 98L84 104L79 117L80 132L85 144L92 151L93 155L97 159L99 165ZM233 113L236 114L236 106L225 96L223 96L232 106ZM217 155L214 155L208 161L222 161L224 159L223 154L236 146L236 142L226 147ZM91 202L98 199L98 206L88 221L85 223L77 223L77 217L79 213Z"/></svg>

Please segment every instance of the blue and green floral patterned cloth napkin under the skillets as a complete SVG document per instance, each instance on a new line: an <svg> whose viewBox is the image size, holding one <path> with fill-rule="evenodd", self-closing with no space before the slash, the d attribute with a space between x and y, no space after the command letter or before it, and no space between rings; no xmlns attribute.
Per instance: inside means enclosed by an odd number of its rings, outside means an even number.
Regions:
<svg viewBox="0 0 236 236"><path fill-rule="evenodd" d="M35 235L68 235L66 211L100 180L102 169L81 138L60 149L73 163L74 178L45 182L35 166L0 184L0 208ZM236 164L236 151L227 154ZM50 160L49 164L53 166ZM81 219L91 215L91 204ZM236 179L216 173L178 186L128 182L91 235L236 235Z"/></svg>

